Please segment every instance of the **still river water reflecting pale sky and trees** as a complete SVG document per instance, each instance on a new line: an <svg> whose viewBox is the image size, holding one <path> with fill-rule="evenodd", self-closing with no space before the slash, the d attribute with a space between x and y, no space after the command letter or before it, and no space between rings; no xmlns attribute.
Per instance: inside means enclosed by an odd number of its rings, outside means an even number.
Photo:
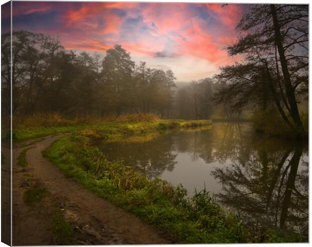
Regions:
<svg viewBox="0 0 312 247"><path fill-rule="evenodd" d="M308 231L308 143L255 134L249 123L213 123L188 130L101 144L123 160L194 194L204 187L227 209L263 226Z"/></svg>

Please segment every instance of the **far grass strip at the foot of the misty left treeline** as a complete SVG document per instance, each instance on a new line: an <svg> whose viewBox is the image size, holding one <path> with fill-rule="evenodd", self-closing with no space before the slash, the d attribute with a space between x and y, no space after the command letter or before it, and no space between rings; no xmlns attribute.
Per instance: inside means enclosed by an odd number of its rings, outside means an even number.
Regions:
<svg viewBox="0 0 312 247"><path fill-rule="evenodd" d="M20 142L58 133L92 130L98 132L102 137L107 137L107 135L138 135L210 124L210 120L162 120L153 114L66 118L58 113L50 113L15 116L12 136L14 142ZM3 128L3 141L6 141L6 137L10 136L6 133L8 134L8 131Z"/></svg>

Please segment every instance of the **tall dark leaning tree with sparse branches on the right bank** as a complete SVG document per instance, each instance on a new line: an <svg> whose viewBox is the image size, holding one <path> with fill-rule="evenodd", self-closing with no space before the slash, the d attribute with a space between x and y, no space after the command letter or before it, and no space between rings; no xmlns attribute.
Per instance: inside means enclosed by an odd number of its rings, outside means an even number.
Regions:
<svg viewBox="0 0 312 247"><path fill-rule="evenodd" d="M245 60L222 68L217 76L238 84L229 87L233 94L249 98L254 97L252 88L265 83L285 122L300 135L304 131L297 97L308 83L307 18L307 5L251 5L237 26L241 37L227 47L230 55L242 54Z"/></svg>

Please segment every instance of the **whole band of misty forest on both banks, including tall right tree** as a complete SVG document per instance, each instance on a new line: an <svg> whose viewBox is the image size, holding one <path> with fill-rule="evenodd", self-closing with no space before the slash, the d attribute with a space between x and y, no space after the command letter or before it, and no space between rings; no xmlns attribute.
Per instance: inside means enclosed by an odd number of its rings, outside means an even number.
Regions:
<svg viewBox="0 0 312 247"><path fill-rule="evenodd" d="M302 134L306 106L302 110L298 105L306 105L308 98L307 17L305 5L251 7L237 26L241 37L227 46L229 55L244 59L220 68L213 78L188 83L177 82L171 70L148 68L144 61L135 64L118 44L105 55L77 53L65 49L59 37L14 31L12 112L95 117L154 113L189 119L214 114L231 120L241 119L242 112L257 112L258 117L280 118L285 128ZM8 114L10 37L2 35L2 102Z"/></svg>

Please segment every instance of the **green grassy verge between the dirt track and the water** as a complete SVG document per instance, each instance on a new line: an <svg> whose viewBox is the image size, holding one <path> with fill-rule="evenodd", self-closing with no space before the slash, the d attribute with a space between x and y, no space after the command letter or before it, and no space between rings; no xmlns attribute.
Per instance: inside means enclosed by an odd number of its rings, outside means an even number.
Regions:
<svg viewBox="0 0 312 247"><path fill-rule="evenodd" d="M183 121L174 126L183 127ZM108 137L119 136L124 128L106 133ZM127 123L127 130L160 129L160 122ZM172 126L170 124L169 126ZM112 126L106 126L106 130ZM166 127L167 128L167 127ZM175 127L176 128L176 127ZM173 187L161 179L148 180L133 168L120 162L107 161L92 145L97 132L84 131L64 137L44 151L53 164L99 197L124 208L149 224L168 232L182 243L238 243L238 242L296 242L301 236L281 237L278 229L266 230L256 238L242 225L239 215L225 213L206 190L194 197L186 197L182 187ZM121 133L119 133L121 131ZM128 133L128 131L126 131ZM103 133L104 134L104 133ZM261 239L261 240L260 240Z"/></svg>

